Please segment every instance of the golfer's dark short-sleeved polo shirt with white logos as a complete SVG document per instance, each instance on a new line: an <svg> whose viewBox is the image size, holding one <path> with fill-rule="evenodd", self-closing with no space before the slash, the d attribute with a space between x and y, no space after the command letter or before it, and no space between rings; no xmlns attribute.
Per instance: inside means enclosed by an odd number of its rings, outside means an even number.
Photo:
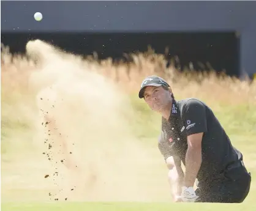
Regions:
<svg viewBox="0 0 256 211"><path fill-rule="evenodd" d="M173 103L169 120L162 119L162 133L158 146L165 160L176 155L186 166L187 139L175 137L172 133L174 128L170 128L171 124L168 124L175 115L181 117L176 127L180 130L180 136L187 138L189 135L203 132L202 163L197 175L200 183L212 182L224 174L228 165L243 160L243 155L232 146L211 108L196 98Z"/></svg>

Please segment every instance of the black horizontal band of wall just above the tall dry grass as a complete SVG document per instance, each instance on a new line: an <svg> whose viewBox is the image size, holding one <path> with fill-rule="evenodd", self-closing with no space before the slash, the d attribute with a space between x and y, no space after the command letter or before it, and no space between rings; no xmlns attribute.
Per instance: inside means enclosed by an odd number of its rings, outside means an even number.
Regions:
<svg viewBox="0 0 256 211"><path fill-rule="evenodd" d="M99 59L113 57L123 59L123 53L147 51L151 45L156 53L165 53L167 59L178 56L181 68L193 62L194 68L202 69L199 62L209 62L217 71L226 70L228 75L239 75L239 45L236 35L227 33L4 33L1 42L8 44L10 50L25 52L28 40L41 39L63 50L75 54L92 55L97 52ZM225 48L224 48L225 46ZM205 69L209 69L205 67Z"/></svg>

